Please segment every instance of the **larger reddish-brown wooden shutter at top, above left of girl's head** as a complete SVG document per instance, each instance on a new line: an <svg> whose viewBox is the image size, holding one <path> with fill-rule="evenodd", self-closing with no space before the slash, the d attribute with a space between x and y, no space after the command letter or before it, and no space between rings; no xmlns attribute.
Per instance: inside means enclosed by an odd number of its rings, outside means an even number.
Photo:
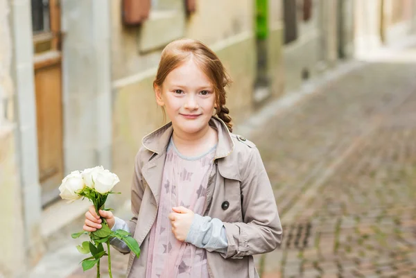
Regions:
<svg viewBox="0 0 416 278"><path fill-rule="evenodd" d="M138 25L148 19L150 0L123 0L123 24Z"/></svg>

